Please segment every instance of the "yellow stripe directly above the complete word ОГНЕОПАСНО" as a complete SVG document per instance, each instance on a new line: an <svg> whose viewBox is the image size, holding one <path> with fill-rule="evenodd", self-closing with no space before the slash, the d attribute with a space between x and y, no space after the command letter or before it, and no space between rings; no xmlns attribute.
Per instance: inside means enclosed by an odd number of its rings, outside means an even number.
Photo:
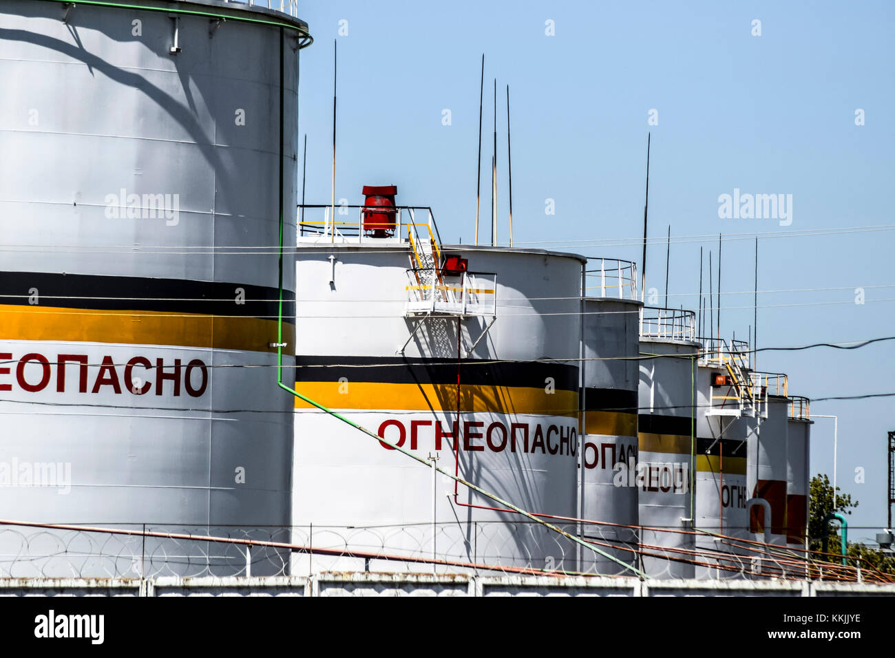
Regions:
<svg viewBox="0 0 895 658"><path fill-rule="evenodd" d="M407 384L371 381L296 381L295 390L333 409L455 411L456 384ZM314 408L295 398L296 409ZM578 393L542 388L460 385L461 412L545 414L577 417Z"/></svg>

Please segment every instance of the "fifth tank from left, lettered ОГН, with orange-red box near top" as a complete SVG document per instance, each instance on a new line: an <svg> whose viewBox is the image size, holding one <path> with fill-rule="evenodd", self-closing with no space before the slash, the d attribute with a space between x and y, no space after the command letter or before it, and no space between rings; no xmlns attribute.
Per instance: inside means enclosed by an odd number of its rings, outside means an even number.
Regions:
<svg viewBox="0 0 895 658"><path fill-rule="evenodd" d="M737 359L729 345L712 348L703 340L696 373L696 547L703 551L697 578L729 579L751 572L746 545L746 432L752 409L741 404L739 389L724 365L746 364L745 352ZM714 341L718 343L719 341ZM742 346L747 349L746 346ZM723 381L723 383L720 383ZM747 375L742 381L747 381ZM721 536L717 536L721 535Z"/></svg>

